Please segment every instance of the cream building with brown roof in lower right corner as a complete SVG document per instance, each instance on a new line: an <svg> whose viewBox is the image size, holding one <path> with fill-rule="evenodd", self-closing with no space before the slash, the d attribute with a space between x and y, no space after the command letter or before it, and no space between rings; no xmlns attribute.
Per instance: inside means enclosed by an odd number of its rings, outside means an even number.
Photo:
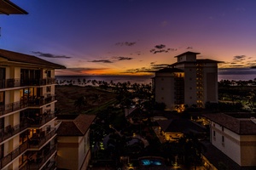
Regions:
<svg viewBox="0 0 256 170"><path fill-rule="evenodd" d="M256 169L256 119L250 113L205 114L210 121L210 150L205 167L218 169L222 162L226 169ZM218 155L212 155L211 148ZM224 159L221 154L230 158ZM216 168L217 167L217 168Z"/></svg>

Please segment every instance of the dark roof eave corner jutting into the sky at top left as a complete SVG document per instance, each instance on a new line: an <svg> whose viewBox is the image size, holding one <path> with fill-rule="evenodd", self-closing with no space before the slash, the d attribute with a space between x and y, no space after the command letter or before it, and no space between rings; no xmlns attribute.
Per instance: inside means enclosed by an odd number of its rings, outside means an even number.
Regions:
<svg viewBox="0 0 256 170"><path fill-rule="evenodd" d="M0 14L28 14L26 10L9 0L0 0Z"/></svg>

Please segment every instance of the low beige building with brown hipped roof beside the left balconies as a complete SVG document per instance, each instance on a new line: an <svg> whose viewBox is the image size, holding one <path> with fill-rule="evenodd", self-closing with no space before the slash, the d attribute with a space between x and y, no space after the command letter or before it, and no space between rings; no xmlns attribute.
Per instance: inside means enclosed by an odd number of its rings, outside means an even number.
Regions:
<svg viewBox="0 0 256 170"><path fill-rule="evenodd" d="M87 169L90 161L90 124L94 115L79 115L74 120L61 122L57 130L57 167Z"/></svg>

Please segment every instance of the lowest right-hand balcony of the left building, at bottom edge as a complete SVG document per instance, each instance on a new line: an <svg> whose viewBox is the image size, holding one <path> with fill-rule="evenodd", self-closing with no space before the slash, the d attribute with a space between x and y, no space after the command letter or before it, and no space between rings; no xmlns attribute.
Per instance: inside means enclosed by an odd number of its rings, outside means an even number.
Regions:
<svg viewBox="0 0 256 170"><path fill-rule="evenodd" d="M33 156L29 156L29 158L26 161L26 165L20 167L20 170L55 169L55 162L49 161L50 157L54 156L55 153L55 146L50 150L38 151L38 153L34 154Z"/></svg>

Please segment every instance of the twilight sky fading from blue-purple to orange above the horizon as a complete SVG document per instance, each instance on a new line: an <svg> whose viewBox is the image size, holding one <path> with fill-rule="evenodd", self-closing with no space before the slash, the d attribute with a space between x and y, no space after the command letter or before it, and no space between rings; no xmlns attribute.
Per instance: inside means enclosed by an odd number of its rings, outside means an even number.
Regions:
<svg viewBox="0 0 256 170"><path fill-rule="evenodd" d="M144 75L192 51L219 68L256 65L254 0L11 0L0 48L67 69L56 75Z"/></svg>

